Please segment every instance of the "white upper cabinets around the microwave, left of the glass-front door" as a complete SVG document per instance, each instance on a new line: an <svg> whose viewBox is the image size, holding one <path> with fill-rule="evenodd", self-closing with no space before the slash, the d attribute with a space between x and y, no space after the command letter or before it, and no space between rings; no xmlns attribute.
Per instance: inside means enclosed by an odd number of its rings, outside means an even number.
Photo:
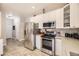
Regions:
<svg viewBox="0 0 79 59"><path fill-rule="evenodd" d="M63 8L40 14L31 18L32 22L39 23L39 28L43 28L44 22L56 21L56 28L63 28Z"/></svg>

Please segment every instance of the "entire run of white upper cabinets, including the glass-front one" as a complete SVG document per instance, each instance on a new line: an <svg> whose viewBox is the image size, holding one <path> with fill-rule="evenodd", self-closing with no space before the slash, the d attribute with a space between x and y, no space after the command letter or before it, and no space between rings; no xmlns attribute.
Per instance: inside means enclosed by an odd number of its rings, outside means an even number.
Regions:
<svg viewBox="0 0 79 59"><path fill-rule="evenodd" d="M63 8L46 12L31 18L43 28L43 22L56 21L56 28L79 28L79 3L71 3Z"/></svg>

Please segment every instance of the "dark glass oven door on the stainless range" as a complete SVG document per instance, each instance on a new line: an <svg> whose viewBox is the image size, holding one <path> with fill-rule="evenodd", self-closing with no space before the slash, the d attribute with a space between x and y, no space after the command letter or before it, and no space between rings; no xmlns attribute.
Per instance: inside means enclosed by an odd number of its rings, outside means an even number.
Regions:
<svg viewBox="0 0 79 59"><path fill-rule="evenodd" d="M52 51L52 40L42 39L42 48Z"/></svg>

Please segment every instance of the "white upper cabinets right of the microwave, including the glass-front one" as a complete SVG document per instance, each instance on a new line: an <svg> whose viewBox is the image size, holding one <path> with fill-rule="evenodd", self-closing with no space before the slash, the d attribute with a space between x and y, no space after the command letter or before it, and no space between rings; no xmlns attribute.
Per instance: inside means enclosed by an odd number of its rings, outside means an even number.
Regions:
<svg viewBox="0 0 79 59"><path fill-rule="evenodd" d="M55 10L56 28L79 28L79 3Z"/></svg>

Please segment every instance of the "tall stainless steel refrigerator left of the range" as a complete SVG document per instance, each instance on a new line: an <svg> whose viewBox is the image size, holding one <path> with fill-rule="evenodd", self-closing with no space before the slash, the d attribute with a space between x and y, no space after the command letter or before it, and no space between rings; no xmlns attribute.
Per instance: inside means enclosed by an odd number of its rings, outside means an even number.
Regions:
<svg viewBox="0 0 79 59"><path fill-rule="evenodd" d="M36 48L36 35L34 34L35 24L26 22L24 26L24 47L34 50Z"/></svg>

